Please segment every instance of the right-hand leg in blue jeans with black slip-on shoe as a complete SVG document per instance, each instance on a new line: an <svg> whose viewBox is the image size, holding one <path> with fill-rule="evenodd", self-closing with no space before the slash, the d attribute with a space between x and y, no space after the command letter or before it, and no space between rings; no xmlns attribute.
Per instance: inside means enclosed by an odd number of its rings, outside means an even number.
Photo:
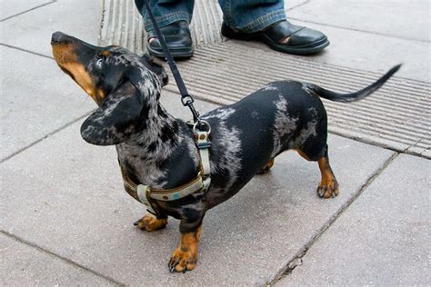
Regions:
<svg viewBox="0 0 431 287"><path fill-rule="evenodd" d="M315 54L329 41L323 33L286 20L283 0L219 0L224 18L222 35L257 40L287 54Z"/></svg>

